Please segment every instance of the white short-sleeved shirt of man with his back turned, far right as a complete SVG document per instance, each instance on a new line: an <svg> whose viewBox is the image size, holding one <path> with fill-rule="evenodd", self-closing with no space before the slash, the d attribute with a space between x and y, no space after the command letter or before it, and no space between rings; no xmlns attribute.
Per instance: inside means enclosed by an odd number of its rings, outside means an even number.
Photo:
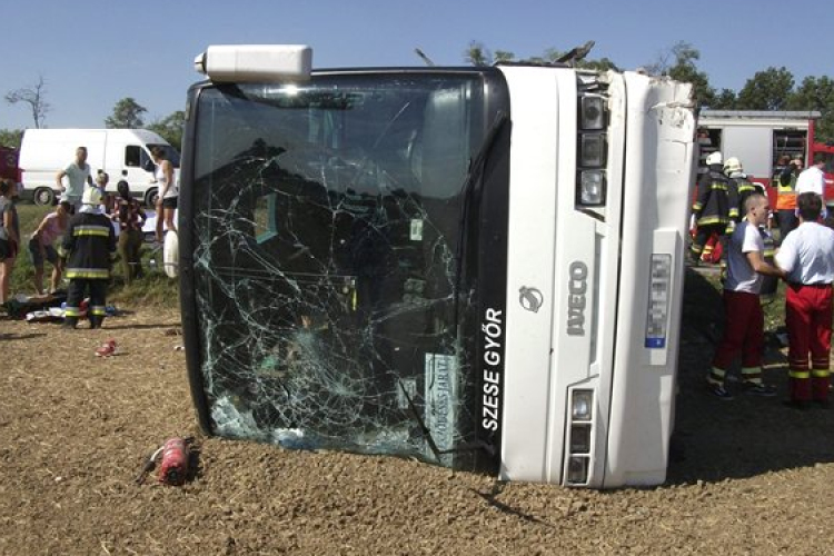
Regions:
<svg viewBox="0 0 834 556"><path fill-rule="evenodd" d="M776 264L792 284L834 281L834 230L816 222L802 222L782 241Z"/></svg>

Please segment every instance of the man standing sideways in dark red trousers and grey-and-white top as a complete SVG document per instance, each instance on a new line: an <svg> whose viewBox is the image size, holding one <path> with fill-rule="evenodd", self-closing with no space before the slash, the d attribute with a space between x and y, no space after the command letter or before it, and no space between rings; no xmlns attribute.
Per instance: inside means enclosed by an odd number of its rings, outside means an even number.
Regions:
<svg viewBox="0 0 834 556"><path fill-rule="evenodd" d="M759 227L767 222L771 207L767 197L752 193L745 201L745 220L727 241L727 279L724 282L724 336L713 356L706 384L721 399L733 399L726 389L727 369L742 354L742 386L758 396L775 396L776 389L762 381L764 312L758 294L763 276L783 276L782 270L764 260L764 241Z"/></svg>

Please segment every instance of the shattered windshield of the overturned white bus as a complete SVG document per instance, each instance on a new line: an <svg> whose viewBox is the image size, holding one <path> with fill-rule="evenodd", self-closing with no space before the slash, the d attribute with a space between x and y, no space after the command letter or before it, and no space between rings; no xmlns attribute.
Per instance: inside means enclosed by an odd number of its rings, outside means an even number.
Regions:
<svg viewBox="0 0 834 556"><path fill-rule="evenodd" d="M215 433L438 458L474 438L456 304L473 75L207 88L195 297Z"/></svg>

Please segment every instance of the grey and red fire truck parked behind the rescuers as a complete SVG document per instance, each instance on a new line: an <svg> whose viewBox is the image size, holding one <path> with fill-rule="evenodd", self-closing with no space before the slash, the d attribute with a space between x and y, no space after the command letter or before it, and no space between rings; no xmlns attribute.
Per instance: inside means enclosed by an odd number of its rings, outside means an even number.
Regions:
<svg viewBox="0 0 834 556"><path fill-rule="evenodd" d="M752 181L771 186L783 168L780 160L784 157L801 158L807 168L814 156L823 152L825 199L827 205L834 205L834 145L817 142L814 135L814 123L821 116L817 111L702 110L698 172L706 170L706 157L719 150L725 160L738 158ZM775 187L766 189L775 203Z"/></svg>

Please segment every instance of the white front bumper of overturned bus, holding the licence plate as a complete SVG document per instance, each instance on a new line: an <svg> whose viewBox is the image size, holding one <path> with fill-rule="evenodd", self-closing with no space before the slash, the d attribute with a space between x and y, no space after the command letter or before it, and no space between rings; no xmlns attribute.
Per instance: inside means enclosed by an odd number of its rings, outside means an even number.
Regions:
<svg viewBox="0 0 834 556"><path fill-rule="evenodd" d="M687 85L626 73L620 295L605 487L666 477L695 121ZM671 264L665 337L647 341L653 254ZM653 298L655 296L653 295Z"/></svg>

